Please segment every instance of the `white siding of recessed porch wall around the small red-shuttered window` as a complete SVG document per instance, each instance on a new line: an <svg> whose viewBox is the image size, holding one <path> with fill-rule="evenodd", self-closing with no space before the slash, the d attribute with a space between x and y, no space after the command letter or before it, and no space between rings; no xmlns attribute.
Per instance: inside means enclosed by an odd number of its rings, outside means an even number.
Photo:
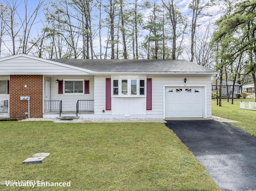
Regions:
<svg viewBox="0 0 256 191"><path fill-rule="evenodd" d="M50 100L62 100L62 111L76 111L76 102L78 100L94 100L94 78L93 77L58 77L58 80L89 80L90 94L84 93L63 93L58 94L58 83L56 77L50 81Z"/></svg>

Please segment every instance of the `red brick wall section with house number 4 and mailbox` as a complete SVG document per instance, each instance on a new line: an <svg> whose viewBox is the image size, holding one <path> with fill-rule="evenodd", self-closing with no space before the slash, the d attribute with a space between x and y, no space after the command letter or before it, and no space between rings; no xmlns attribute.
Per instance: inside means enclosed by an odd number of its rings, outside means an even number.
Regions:
<svg viewBox="0 0 256 191"><path fill-rule="evenodd" d="M24 87L27 85L27 87ZM30 117L42 117L43 76L10 75L10 118L23 119L28 112L28 101L20 96L30 96Z"/></svg>

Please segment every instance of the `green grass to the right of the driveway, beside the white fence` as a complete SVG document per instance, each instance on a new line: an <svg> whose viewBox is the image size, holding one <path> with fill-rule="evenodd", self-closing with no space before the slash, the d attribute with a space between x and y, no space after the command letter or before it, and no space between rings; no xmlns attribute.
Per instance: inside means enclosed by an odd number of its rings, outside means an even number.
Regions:
<svg viewBox="0 0 256 191"><path fill-rule="evenodd" d="M240 109L240 101L254 102L255 99L234 99L234 104L231 104L231 99L222 99L222 106L216 105L216 99L212 99L212 115L238 120L239 123L230 123L246 132L256 136L256 111Z"/></svg>

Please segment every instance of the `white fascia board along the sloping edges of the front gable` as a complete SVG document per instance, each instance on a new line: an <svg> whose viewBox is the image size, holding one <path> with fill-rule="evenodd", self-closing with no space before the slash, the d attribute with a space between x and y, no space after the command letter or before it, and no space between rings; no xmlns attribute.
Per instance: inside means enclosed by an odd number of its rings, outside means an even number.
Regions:
<svg viewBox="0 0 256 191"><path fill-rule="evenodd" d="M63 66L63 67L71 68L71 69L76 69L76 70L84 71L84 72L87 72L87 73L95 72L93 70L88 70L88 69L84 69L84 68L80 68L80 67L76 67L76 66L71 66L71 65L68 65L68 64L63 64L63 63L56 62L56 61L51 61L51 60L48 60L48 59L43 59L43 58L39 58L39 57L30 56L30 55L27 55L27 54L16 54L16 55L4 57L4 58L0 59L0 62L1 61L6 61L6 60L9 60L9 59L18 58L18 57L26 57L26 58L29 58L29 59L34 59L34 60L38 60L38 61L42 61L42 62L46 62L46 63L51 63L51 64L55 64L55 65L59 65L59 66Z"/></svg>

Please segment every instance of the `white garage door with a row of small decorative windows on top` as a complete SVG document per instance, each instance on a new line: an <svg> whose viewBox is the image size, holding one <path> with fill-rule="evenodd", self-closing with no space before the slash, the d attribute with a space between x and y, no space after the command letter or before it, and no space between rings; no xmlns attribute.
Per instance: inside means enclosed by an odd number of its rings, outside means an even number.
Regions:
<svg viewBox="0 0 256 191"><path fill-rule="evenodd" d="M203 117L204 93L202 87L166 87L166 118Z"/></svg>

